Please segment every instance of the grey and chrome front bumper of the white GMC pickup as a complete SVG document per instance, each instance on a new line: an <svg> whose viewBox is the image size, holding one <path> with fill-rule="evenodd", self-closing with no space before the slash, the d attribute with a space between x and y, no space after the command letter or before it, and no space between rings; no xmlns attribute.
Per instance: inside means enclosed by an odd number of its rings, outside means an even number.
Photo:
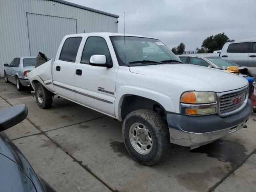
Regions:
<svg viewBox="0 0 256 192"><path fill-rule="evenodd" d="M252 112L251 101L236 114L221 118L220 116L188 116L167 114L171 143L195 147L208 144L240 130L248 122Z"/></svg>

